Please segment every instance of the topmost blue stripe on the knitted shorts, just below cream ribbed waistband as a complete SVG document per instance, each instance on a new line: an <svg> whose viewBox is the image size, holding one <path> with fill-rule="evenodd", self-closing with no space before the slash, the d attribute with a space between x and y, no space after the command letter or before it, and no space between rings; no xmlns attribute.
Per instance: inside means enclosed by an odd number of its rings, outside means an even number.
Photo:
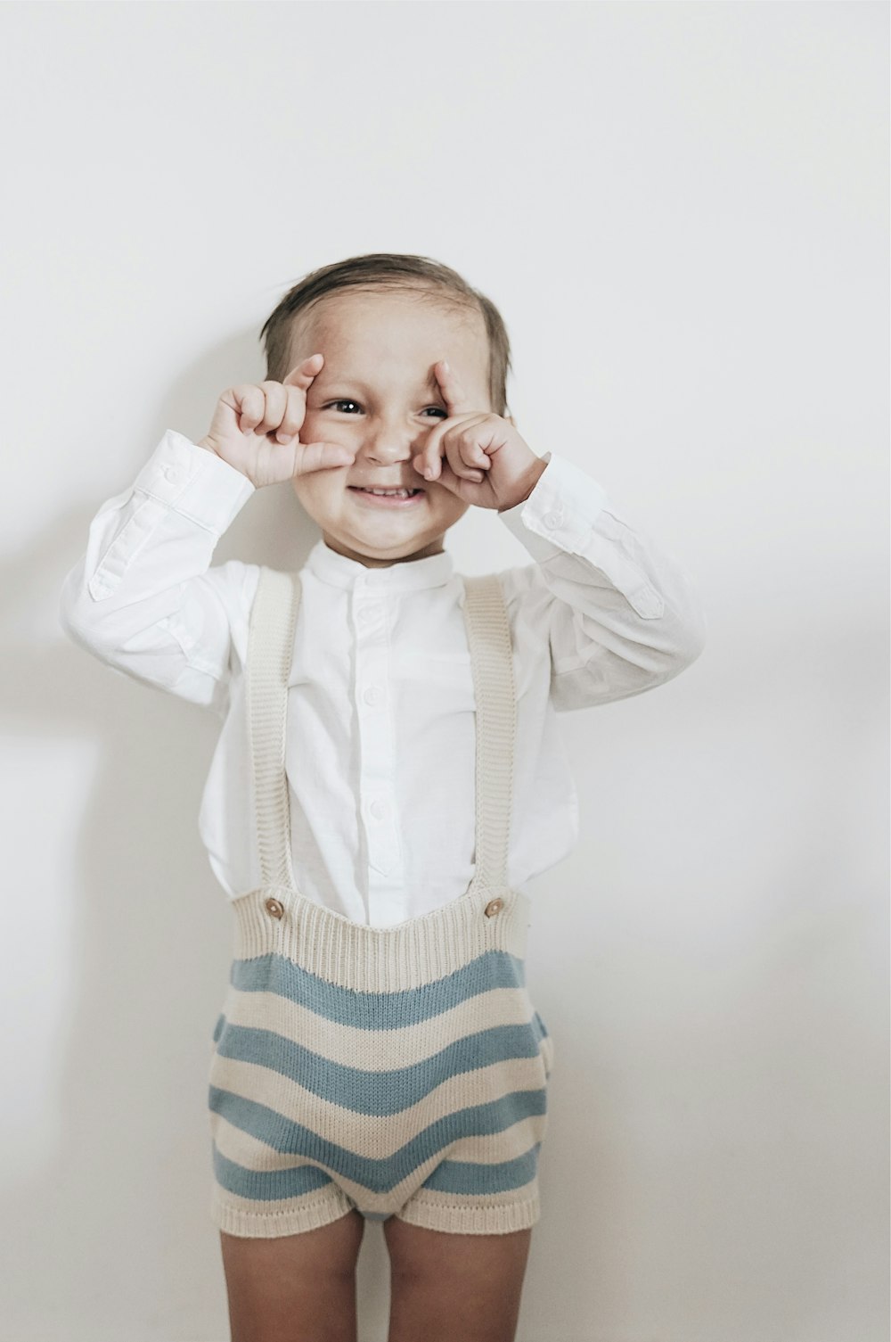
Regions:
<svg viewBox="0 0 891 1342"><path fill-rule="evenodd" d="M229 978L233 988L247 993L276 993L299 1002L317 1016L352 1025L356 1029L401 1029L421 1020L440 1016L468 997L492 988L523 988L525 961L506 950L487 950L456 969L420 988L393 993L361 993L311 974L286 956L270 953L254 960L232 962Z"/></svg>

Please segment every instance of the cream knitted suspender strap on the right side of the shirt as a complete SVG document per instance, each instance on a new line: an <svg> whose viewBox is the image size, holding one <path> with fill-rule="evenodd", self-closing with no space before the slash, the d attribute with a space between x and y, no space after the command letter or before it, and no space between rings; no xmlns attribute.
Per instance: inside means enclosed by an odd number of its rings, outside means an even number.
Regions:
<svg viewBox="0 0 891 1342"><path fill-rule="evenodd" d="M476 871L483 886L507 886L507 843L517 737L514 652L507 608L494 573L466 577L464 621L476 699Z"/></svg>

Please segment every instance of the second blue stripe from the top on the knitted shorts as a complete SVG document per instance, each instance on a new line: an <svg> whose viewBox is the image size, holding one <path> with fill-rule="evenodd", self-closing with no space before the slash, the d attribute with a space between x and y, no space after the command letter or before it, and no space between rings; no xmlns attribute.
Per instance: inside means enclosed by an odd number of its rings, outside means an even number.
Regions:
<svg viewBox="0 0 891 1342"><path fill-rule="evenodd" d="M225 1024L217 1053L287 1076L313 1095L353 1114L380 1117L400 1114L454 1076L513 1057L537 1057L541 1039L539 1017L534 1016L525 1025L492 1025L466 1035L408 1067L366 1071L333 1063L274 1031Z"/></svg>

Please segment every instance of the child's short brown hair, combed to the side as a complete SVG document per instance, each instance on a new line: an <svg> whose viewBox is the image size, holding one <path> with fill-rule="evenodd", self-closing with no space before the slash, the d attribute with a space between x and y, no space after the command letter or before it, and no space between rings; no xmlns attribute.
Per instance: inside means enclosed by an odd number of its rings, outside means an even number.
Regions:
<svg viewBox="0 0 891 1342"><path fill-rule="evenodd" d="M349 256L303 275L289 289L260 330L266 345L266 376L280 382L290 372L290 352L298 315L339 289L403 290L416 293L421 302L437 303L462 314L478 311L488 338L488 391L495 415L507 413L507 373L510 342L502 315L484 294L462 279L458 271L429 256L370 252Z"/></svg>

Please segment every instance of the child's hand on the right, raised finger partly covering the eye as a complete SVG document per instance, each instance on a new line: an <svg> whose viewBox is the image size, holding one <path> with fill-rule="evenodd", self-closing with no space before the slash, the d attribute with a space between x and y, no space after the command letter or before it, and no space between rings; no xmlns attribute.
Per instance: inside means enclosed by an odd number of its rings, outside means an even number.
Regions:
<svg viewBox="0 0 891 1342"><path fill-rule="evenodd" d="M433 364L448 419L440 420L412 464L478 507L503 513L529 498L547 466L535 456L510 420L474 411L448 364ZM446 460L443 460L443 454Z"/></svg>

